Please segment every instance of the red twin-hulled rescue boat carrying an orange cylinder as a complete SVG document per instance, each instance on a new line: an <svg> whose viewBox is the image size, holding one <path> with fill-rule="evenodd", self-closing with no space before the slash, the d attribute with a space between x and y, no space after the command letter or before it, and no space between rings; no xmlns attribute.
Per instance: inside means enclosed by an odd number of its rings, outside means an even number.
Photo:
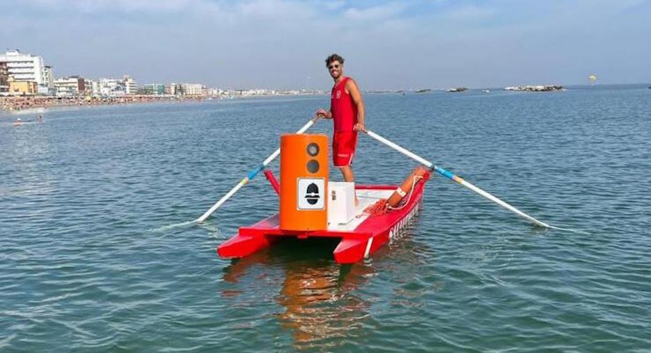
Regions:
<svg viewBox="0 0 651 353"><path fill-rule="evenodd" d="M281 138L281 181L265 176L280 197L279 213L240 227L217 247L223 258L242 258L286 237L337 238L337 263L355 263L391 242L423 207L431 171L418 167L402 185L353 185L328 181L327 136ZM359 204L354 204L354 197Z"/></svg>

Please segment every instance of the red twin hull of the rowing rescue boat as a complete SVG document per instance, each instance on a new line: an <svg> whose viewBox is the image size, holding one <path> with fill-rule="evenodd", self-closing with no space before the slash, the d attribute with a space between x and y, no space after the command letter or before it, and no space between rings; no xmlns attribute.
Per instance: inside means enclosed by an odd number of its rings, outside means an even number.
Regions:
<svg viewBox="0 0 651 353"><path fill-rule="evenodd" d="M299 239L312 237L340 238L340 243L333 252L337 263L356 263L370 256L389 243L407 222L422 207L423 188L430 179L430 172L423 180L416 183L414 190L402 208L383 215L369 215L351 231L285 231L279 228L279 215L272 215L250 227L240 227L236 236L217 247L217 253L223 258L241 258L271 246L275 240L293 236ZM376 185L356 186L356 190L395 190L397 186Z"/></svg>

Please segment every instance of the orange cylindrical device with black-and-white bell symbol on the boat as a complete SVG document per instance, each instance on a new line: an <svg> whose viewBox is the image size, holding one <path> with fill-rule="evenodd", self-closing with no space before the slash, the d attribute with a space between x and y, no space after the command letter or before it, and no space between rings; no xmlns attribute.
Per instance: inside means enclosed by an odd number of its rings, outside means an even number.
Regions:
<svg viewBox="0 0 651 353"><path fill-rule="evenodd" d="M281 229L327 229L327 185L328 137L281 136Z"/></svg>

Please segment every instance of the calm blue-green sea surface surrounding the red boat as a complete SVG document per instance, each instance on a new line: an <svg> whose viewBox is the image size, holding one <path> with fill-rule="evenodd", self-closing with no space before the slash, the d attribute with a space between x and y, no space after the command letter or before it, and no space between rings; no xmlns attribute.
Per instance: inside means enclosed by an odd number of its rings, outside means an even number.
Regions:
<svg viewBox="0 0 651 353"><path fill-rule="evenodd" d="M363 263L302 242L223 260L219 243L277 209L264 177L202 226L160 228L201 215L329 97L5 113L0 351L651 350L651 90L365 100L372 131L586 233L434 177L416 221ZM358 181L415 165L360 136Z"/></svg>

